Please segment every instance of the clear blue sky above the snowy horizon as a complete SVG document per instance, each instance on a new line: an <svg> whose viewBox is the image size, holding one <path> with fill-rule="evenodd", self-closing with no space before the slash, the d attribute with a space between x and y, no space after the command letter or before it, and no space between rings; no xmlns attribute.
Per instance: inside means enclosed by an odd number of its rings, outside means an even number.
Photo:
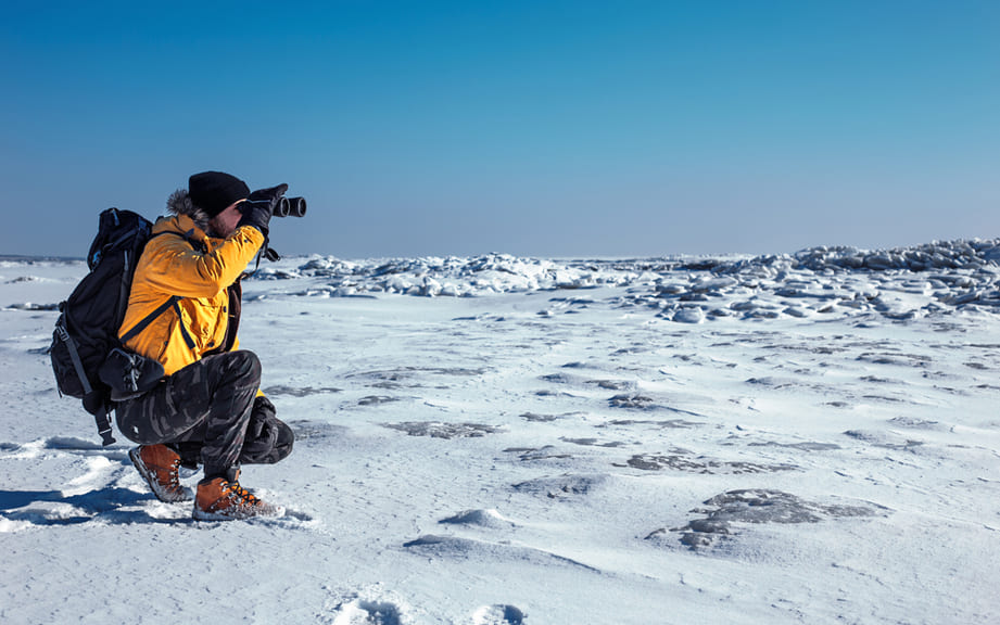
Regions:
<svg viewBox="0 0 1000 625"><path fill-rule="evenodd" d="M284 253L657 256L1000 235L1000 2L4 2L0 254L189 175Z"/></svg>

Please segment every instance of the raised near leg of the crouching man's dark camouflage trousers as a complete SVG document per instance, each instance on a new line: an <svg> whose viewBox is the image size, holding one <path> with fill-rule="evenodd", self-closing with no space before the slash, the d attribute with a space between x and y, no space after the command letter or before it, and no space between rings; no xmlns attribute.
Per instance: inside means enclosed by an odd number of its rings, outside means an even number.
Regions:
<svg viewBox="0 0 1000 625"><path fill-rule="evenodd" d="M252 352L207 356L119 403L118 430L140 445L177 444L189 457L200 448L205 475L225 475L241 460L260 384L261 361Z"/></svg>

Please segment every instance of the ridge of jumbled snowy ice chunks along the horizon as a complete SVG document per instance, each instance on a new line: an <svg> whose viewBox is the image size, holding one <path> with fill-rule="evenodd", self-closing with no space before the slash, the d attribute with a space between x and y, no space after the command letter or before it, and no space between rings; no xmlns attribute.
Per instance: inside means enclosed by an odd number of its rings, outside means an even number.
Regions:
<svg viewBox="0 0 1000 625"><path fill-rule="evenodd" d="M906 321L953 310L1000 311L998 263L1000 239L876 251L819 246L754 257L554 260L488 254L349 262L313 256L264 267L254 278L288 281L295 286L286 296L307 297L593 292L554 297L542 317L579 312L603 298L682 324L863 315Z"/></svg>

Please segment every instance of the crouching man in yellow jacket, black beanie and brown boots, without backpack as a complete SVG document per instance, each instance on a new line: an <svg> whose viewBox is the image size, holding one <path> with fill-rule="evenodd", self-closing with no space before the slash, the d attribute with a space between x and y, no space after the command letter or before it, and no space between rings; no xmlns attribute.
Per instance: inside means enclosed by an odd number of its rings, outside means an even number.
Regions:
<svg viewBox="0 0 1000 625"><path fill-rule="evenodd" d="M240 278L287 189L251 193L228 174L191 176L188 190L167 202L173 216L153 226L132 279L119 336L128 336L126 348L163 365L166 378L141 395L113 397L118 429L139 443L129 457L162 501L190 499L178 470L203 464L199 520L284 513L239 483L241 463L281 460L294 436L261 393L261 361L239 349L237 330ZM166 309L136 332L159 307Z"/></svg>

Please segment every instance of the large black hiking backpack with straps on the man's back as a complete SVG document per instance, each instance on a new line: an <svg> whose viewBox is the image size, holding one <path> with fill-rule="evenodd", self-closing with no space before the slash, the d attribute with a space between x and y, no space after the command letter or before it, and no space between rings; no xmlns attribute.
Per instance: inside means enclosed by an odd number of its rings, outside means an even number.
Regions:
<svg viewBox="0 0 1000 625"><path fill-rule="evenodd" d="M125 319L132 276L145 243L153 237L152 224L130 211L109 208L101 213L98 234L90 245L90 272L80 280L68 299L60 303L50 356L60 393L83 399L93 414L105 446L115 442L111 431L111 388L99 370L112 352L141 332L156 317L175 305L173 296L118 340ZM167 232L162 232L166 234ZM160 233L157 233L160 234ZM183 237L180 233L175 233Z"/></svg>

